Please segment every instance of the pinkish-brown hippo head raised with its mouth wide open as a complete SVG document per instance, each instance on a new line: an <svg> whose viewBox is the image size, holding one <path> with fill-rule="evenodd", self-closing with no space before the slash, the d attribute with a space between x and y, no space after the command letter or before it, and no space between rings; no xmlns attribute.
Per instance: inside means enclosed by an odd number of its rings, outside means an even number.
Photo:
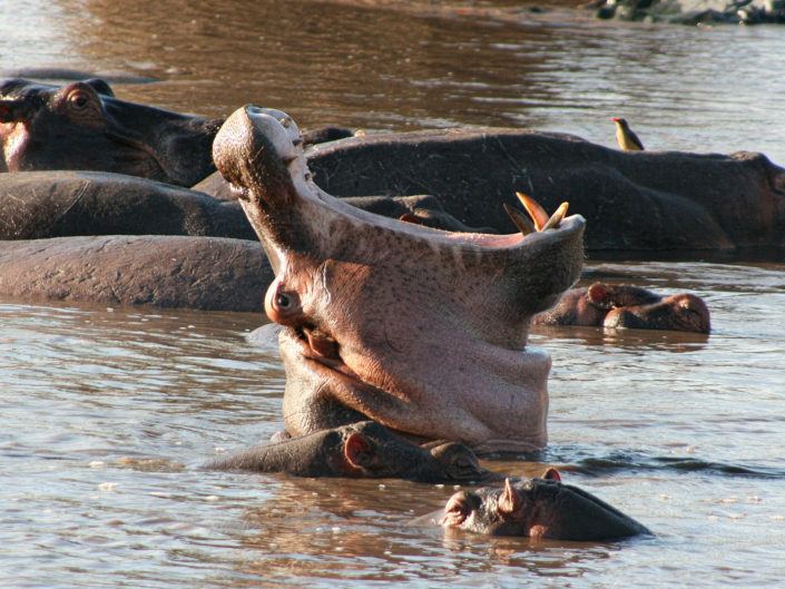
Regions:
<svg viewBox="0 0 785 589"><path fill-rule="evenodd" d="M349 206L311 178L295 122L246 106L213 146L271 259L265 297L292 435L373 419L475 451L546 444L550 370L534 313L579 276L583 219L450 233Z"/></svg>

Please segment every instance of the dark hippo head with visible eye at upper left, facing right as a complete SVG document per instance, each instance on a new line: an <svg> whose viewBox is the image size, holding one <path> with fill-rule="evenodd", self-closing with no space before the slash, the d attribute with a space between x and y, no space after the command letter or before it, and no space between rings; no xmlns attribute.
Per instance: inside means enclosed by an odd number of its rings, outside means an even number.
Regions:
<svg viewBox="0 0 785 589"><path fill-rule="evenodd" d="M100 79L0 84L0 171L90 169L193 186L220 121L126 102Z"/></svg>

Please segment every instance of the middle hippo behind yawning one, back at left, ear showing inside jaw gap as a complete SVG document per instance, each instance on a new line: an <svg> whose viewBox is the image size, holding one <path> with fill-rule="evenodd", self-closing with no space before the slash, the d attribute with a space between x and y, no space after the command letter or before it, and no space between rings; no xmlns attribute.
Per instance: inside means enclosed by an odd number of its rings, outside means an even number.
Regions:
<svg viewBox="0 0 785 589"><path fill-rule="evenodd" d="M470 230L428 195L350 197L346 203L394 218ZM0 175L0 239L69 235L206 235L256 239L234 200L106 171Z"/></svg>

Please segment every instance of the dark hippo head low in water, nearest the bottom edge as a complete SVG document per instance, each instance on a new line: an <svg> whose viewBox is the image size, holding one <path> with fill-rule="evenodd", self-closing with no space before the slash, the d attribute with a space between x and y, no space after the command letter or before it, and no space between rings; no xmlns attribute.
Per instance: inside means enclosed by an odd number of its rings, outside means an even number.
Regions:
<svg viewBox="0 0 785 589"><path fill-rule="evenodd" d="M532 539L609 541L651 532L605 501L563 484L558 471L543 478L504 480L502 489L459 491L444 505L445 530Z"/></svg>

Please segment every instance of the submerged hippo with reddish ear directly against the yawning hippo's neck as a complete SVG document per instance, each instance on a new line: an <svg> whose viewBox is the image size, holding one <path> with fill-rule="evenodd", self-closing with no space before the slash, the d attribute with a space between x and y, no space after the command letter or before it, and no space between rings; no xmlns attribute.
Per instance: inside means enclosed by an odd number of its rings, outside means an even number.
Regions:
<svg viewBox="0 0 785 589"><path fill-rule="evenodd" d="M480 468L474 453L463 444L414 445L374 421L248 448L218 457L203 468L286 472L295 477L395 478L428 483L497 478Z"/></svg>

